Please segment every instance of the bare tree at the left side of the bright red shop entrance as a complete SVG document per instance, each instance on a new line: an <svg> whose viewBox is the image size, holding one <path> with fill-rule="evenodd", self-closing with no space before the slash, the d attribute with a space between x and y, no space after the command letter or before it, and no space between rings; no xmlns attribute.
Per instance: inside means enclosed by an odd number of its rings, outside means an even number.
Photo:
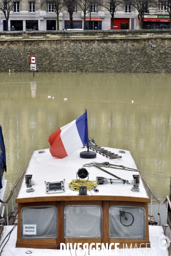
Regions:
<svg viewBox="0 0 171 256"><path fill-rule="evenodd" d="M109 10L112 16L112 29L114 26L114 14L116 12L116 6L123 5L125 0L104 0L100 5Z"/></svg>

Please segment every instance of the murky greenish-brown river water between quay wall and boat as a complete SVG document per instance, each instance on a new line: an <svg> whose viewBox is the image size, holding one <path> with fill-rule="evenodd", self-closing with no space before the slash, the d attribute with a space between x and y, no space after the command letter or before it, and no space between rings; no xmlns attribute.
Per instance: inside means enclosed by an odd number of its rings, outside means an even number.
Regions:
<svg viewBox="0 0 171 256"><path fill-rule="evenodd" d="M142 172L171 175L171 74L0 73L6 198L32 151L49 148L49 135L85 108L98 145L131 151ZM169 194L170 178L145 179L160 200Z"/></svg>

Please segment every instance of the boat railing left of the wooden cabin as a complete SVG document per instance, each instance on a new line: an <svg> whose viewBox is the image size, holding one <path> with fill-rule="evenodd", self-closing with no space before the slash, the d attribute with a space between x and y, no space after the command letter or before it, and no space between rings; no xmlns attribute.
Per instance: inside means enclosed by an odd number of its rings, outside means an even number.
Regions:
<svg viewBox="0 0 171 256"><path fill-rule="evenodd" d="M16 197L17 197L17 194L19 192L19 189L17 191L17 185L19 184L20 180L21 181L23 180L23 175L26 172L26 169L27 169L27 167L23 170L23 172L18 177L17 181L15 182L15 184L14 184L12 190L11 190L11 193L10 193L8 199L6 201L2 201L0 199L1 203L6 204L6 222L7 222L7 225L9 225L9 213L10 213L11 208L12 208L12 214L14 213L14 198L13 198L14 191L16 192ZM11 206L10 209L8 209L8 203L9 203L10 199L12 199L12 206Z"/></svg>

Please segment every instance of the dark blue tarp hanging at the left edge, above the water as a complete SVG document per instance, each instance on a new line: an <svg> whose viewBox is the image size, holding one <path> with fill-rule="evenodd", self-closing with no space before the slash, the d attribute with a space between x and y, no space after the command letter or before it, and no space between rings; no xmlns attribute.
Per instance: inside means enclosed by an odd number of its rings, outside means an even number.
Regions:
<svg viewBox="0 0 171 256"><path fill-rule="evenodd" d="M3 141L3 131L0 125L0 189L2 189L2 172L3 169L6 171L6 149Z"/></svg>

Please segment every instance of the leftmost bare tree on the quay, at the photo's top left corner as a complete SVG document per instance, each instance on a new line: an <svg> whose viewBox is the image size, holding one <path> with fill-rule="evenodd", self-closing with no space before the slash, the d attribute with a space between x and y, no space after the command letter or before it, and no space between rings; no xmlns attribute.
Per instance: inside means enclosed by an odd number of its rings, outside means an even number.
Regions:
<svg viewBox="0 0 171 256"><path fill-rule="evenodd" d="M21 2L21 0L17 0L17 2ZM9 22L9 13L17 8L17 2L13 2L13 0L0 0L0 10L3 12L6 18L6 31L9 30L8 22Z"/></svg>

